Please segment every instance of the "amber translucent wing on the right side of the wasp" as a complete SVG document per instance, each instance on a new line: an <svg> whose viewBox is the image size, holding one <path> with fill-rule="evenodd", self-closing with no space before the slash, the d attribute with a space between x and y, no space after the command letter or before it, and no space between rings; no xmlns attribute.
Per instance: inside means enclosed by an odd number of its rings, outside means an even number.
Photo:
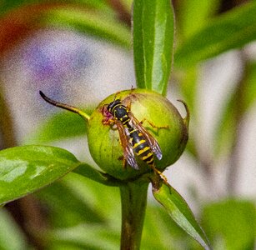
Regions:
<svg viewBox="0 0 256 250"><path fill-rule="evenodd" d="M161 160L163 155L162 155L162 151L161 151L161 148L159 147L157 140L155 138L153 138L153 136L150 133L148 133L147 129L143 127L141 122L138 122L137 118L133 116L132 112L128 112L128 116L130 117L130 119L133 123L133 126L135 128L138 128L140 133L143 134L143 137L148 142L149 147L152 149L153 153L155 153L158 160Z"/></svg>

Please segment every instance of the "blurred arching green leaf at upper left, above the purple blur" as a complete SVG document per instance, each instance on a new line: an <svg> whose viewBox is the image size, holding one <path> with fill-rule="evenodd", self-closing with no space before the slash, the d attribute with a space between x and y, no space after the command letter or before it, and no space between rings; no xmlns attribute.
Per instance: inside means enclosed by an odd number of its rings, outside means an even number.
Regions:
<svg viewBox="0 0 256 250"><path fill-rule="evenodd" d="M38 22L45 26L73 28L119 46L130 48L130 31L108 15L75 7L55 7L45 11Z"/></svg>

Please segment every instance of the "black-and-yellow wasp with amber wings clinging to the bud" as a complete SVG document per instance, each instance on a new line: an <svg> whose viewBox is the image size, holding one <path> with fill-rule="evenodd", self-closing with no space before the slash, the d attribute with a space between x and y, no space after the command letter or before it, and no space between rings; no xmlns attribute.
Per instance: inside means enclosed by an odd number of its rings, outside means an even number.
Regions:
<svg viewBox="0 0 256 250"><path fill-rule="evenodd" d="M143 127L143 122L139 122L134 117L130 111L130 103L125 106L120 99L114 98L113 102L107 105L107 112L103 107L103 116L105 117L103 124L112 123L117 126L120 143L123 148L124 166L126 166L127 162L132 168L138 169L136 155L166 181L163 174L155 168L154 155L158 160L161 160L163 157L161 148L157 140ZM149 124L154 128L168 128L168 126L154 126L151 122Z"/></svg>

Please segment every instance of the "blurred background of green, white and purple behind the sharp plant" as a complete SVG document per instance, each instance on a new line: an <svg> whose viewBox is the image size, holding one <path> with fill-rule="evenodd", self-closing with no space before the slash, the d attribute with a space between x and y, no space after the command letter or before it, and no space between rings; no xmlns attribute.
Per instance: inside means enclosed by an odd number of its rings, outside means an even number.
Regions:
<svg viewBox="0 0 256 250"><path fill-rule="evenodd" d="M218 52L210 52L209 42L201 59L189 53L180 59L180 51L193 47L197 36L202 44L211 36L214 42L218 34L208 27L224 18L238 25L237 13L243 18L249 4L256 17L252 2L173 1L177 53L167 97L183 116L176 100L188 103L191 123L187 150L165 175L214 249L255 249L255 28L247 40L238 33L237 45L223 41ZM83 119L38 92L90 111L111 93L136 87L131 9L131 0L0 3L1 149L53 145L96 167ZM142 249L201 249L169 223L150 194L148 203ZM120 218L118 189L70 173L0 210L0 249L118 249Z"/></svg>

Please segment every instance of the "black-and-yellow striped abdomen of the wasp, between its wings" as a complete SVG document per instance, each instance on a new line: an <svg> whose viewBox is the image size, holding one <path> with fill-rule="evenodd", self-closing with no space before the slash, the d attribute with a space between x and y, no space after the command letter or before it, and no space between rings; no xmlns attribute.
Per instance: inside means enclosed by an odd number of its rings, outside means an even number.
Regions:
<svg viewBox="0 0 256 250"><path fill-rule="evenodd" d="M148 165L153 165L153 152L142 133L136 129L129 129L130 143L133 145L133 152Z"/></svg>

